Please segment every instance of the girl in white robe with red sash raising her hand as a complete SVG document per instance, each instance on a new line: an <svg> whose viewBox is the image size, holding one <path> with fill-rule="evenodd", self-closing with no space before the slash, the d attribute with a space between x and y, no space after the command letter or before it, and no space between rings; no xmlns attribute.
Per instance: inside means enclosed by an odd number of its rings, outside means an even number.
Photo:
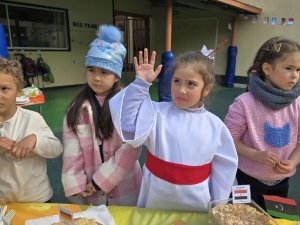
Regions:
<svg viewBox="0 0 300 225"><path fill-rule="evenodd" d="M173 67L171 102L153 102L156 53L134 58L136 79L110 101L123 141L147 146L138 206L206 211L211 200L227 199L237 170L237 153L225 124L203 99L212 89L213 65L201 53L187 53Z"/></svg>

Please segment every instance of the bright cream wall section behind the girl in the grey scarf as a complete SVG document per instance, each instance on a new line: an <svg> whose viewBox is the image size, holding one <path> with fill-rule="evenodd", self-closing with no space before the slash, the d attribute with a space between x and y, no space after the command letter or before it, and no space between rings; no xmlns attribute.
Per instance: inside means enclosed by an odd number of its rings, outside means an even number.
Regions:
<svg viewBox="0 0 300 225"><path fill-rule="evenodd" d="M252 17L245 20L238 17L236 45L238 47L236 75L246 76L258 48L273 36L285 36L300 41L300 1L299 0L242 0L242 2L262 8L257 24L251 22ZM265 17L277 18L277 24L264 24ZM294 18L294 25L280 25L281 18Z"/></svg>

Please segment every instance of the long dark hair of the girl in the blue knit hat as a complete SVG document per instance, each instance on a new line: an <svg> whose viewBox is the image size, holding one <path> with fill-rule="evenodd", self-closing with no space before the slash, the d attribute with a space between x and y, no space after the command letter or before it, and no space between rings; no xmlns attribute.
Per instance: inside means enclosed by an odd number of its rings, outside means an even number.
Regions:
<svg viewBox="0 0 300 225"><path fill-rule="evenodd" d="M77 133L76 126L78 124L78 118L81 106L84 101L88 100L91 104L92 111L93 111L93 119L94 119L94 126L96 136L100 139L108 139L112 136L112 132L114 130L114 125L111 119L110 109L109 109L109 100L120 90L122 89L122 85L120 80L114 83L111 88L110 93L106 96L104 103L101 107L100 114L97 112L94 96L95 92L89 87L88 84L85 85L83 90L74 97L70 105L66 110L66 120L67 126L70 130L74 133ZM99 128L99 129L97 129Z"/></svg>

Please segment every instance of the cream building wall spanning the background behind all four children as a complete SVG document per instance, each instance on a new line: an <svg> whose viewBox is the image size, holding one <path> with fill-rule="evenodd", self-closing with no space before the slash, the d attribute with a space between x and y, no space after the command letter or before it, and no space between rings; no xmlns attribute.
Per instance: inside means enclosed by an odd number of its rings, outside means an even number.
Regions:
<svg viewBox="0 0 300 225"><path fill-rule="evenodd" d="M284 35L297 40L300 29L300 1L298 0L240 0L249 5L262 8L256 24L249 16L245 20L237 16L236 45L238 47L236 75L247 76L256 50L268 38L275 35ZM45 51L43 58L51 66L55 76L54 84L45 84L45 87L75 85L85 83L84 56L89 43L96 37L95 29L78 28L73 22L101 24L112 23L112 0L19 0L19 2L37 5L66 8L69 12L71 51ZM165 49L165 7L153 7L149 0L115 0L117 11L151 16L150 40L151 50L158 52L157 63ZM191 8L173 8L172 51L179 55L185 51L199 51L203 44L208 48L215 48L224 39L231 38L228 24L233 21L235 14L221 10L203 10ZM275 26L265 25L264 18L276 16ZM281 17L295 18L295 24L280 26ZM35 52L28 52L28 56L36 58ZM223 47L216 55L216 73L224 75L227 64L227 47Z"/></svg>

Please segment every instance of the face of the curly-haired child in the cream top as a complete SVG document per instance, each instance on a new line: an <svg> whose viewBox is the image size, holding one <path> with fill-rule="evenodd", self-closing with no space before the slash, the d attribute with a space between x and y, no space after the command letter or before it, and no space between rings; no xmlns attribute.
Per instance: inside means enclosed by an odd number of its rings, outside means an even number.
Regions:
<svg viewBox="0 0 300 225"><path fill-rule="evenodd" d="M0 72L0 117L10 119L16 112L16 98L22 94L13 76Z"/></svg>

